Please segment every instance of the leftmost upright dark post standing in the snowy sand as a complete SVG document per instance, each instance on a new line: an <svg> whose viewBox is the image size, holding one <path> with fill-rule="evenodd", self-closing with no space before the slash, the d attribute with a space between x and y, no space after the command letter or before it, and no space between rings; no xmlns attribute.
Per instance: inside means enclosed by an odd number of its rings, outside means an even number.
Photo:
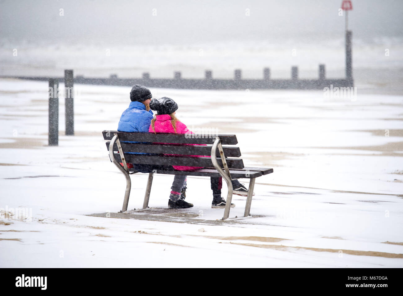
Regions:
<svg viewBox="0 0 403 296"><path fill-rule="evenodd" d="M49 133L48 145L59 145L59 81L58 79L49 79Z"/></svg>

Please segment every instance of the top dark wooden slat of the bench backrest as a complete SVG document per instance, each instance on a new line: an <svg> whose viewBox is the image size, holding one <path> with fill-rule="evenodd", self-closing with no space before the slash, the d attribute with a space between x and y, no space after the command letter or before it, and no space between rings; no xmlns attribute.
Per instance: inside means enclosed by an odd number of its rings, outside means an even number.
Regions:
<svg viewBox="0 0 403 296"><path fill-rule="evenodd" d="M174 144L212 144L215 140L214 135L199 134L191 136L189 134L169 134L152 132L118 132L117 130L104 130L102 135L105 140L112 140L114 134L118 134L121 141L133 142L155 142L155 143L174 143ZM220 137L222 145L236 145L238 143L235 135L217 135ZM201 138L193 138L201 137Z"/></svg>

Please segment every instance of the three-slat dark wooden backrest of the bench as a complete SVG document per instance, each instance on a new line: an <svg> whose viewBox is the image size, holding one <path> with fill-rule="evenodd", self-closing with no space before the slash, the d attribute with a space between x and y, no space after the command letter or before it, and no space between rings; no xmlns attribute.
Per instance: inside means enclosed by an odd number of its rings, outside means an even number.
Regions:
<svg viewBox="0 0 403 296"><path fill-rule="evenodd" d="M214 165L211 161L211 149L216 137L220 138L222 145L236 145L238 143L235 135L169 133L154 134L151 132L118 132L116 130L104 130L102 132L105 140L111 140L115 134L117 134L119 137L123 153L125 153L126 162L132 164L159 164L166 166L196 166L213 168ZM107 141L106 148L108 150L109 144L110 141ZM222 146L222 148L228 168L244 168L243 160L235 158L241 156L239 147ZM114 144L113 151L116 161L122 162L116 143ZM152 154L147 155L130 153ZM180 156L162 154L176 154ZM191 155L201 155L201 157L192 157ZM218 150L216 152L216 157L218 164L223 167Z"/></svg>

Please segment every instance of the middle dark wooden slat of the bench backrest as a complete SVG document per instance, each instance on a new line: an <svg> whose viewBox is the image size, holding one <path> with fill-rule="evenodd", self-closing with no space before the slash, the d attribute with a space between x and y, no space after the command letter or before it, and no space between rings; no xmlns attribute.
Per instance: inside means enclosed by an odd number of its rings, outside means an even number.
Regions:
<svg viewBox="0 0 403 296"><path fill-rule="evenodd" d="M106 149L109 150L110 141L106 142ZM184 154L184 155L211 155L211 145L162 145L162 144L137 144L120 142L123 152L142 152L142 153L162 153L162 154ZM224 154L228 157L239 157L241 151L239 147L223 146ZM118 145L115 143L113 151L118 151ZM216 153L220 157L219 151Z"/></svg>

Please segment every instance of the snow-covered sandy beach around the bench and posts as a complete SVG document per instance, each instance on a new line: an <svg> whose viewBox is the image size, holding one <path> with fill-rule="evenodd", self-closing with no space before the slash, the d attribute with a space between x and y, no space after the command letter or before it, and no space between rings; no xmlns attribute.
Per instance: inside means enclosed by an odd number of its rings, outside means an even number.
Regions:
<svg viewBox="0 0 403 296"><path fill-rule="evenodd" d="M0 267L403 267L403 96L152 89L189 129L236 134L245 165L274 169L256 179L253 217L235 219L234 195L234 223L214 225L224 210L203 177L188 178L195 207L178 210L202 222L86 216L121 209L125 178L101 132L117 128L130 89L76 91L75 136L61 98L48 147L47 83L0 80ZM132 176L129 209L146 180ZM171 182L154 176L150 207L167 207Z"/></svg>

